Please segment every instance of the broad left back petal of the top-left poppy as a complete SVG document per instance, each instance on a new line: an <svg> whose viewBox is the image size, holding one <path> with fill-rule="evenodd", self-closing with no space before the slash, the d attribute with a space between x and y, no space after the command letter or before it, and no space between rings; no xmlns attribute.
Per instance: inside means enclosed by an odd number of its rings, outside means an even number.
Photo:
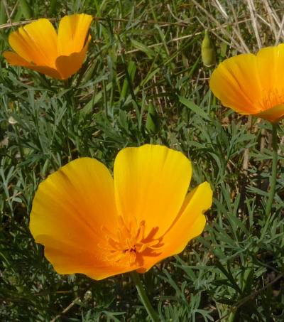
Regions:
<svg viewBox="0 0 284 322"><path fill-rule="evenodd" d="M57 35L48 19L40 18L18 28L9 36L9 44L28 63L55 67L58 55Z"/></svg>

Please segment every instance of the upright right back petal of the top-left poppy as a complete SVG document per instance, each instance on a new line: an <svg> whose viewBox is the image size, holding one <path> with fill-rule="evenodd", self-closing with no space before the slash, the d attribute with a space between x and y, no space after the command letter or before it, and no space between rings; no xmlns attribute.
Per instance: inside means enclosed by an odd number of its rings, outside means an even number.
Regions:
<svg viewBox="0 0 284 322"><path fill-rule="evenodd" d="M91 22L92 16L88 14L63 17L58 27L58 55L69 56L72 53L80 53L86 40L91 39L87 36Z"/></svg>

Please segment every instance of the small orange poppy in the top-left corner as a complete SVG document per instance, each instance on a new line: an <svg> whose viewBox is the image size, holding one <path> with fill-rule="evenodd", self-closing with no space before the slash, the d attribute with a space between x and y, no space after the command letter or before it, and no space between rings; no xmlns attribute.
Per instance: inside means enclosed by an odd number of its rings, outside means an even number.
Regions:
<svg viewBox="0 0 284 322"><path fill-rule="evenodd" d="M40 18L9 36L16 53L5 51L10 65L36 70L58 80L67 80L82 66L91 36L92 16L73 14L61 19L58 34L48 19Z"/></svg>

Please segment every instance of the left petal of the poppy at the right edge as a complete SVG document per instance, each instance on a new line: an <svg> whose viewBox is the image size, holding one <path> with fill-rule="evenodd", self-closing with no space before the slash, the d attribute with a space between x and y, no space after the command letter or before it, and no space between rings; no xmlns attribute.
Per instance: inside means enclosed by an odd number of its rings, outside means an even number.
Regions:
<svg viewBox="0 0 284 322"><path fill-rule="evenodd" d="M261 112L255 103L262 97L256 56L242 54L224 60L209 81L214 95L240 114Z"/></svg>

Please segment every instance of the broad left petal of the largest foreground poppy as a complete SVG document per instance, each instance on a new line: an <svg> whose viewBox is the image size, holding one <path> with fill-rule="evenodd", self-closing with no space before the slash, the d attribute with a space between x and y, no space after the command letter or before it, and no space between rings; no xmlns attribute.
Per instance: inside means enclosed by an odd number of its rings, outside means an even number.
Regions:
<svg viewBox="0 0 284 322"><path fill-rule="evenodd" d="M89 276L93 272L97 279L107 274L100 272L111 266L98 247L104 241L103 226L117 228L114 182L102 163L77 159L40 183L30 230L35 241L45 245L45 254L58 272ZM121 270L117 266L114 274Z"/></svg>

